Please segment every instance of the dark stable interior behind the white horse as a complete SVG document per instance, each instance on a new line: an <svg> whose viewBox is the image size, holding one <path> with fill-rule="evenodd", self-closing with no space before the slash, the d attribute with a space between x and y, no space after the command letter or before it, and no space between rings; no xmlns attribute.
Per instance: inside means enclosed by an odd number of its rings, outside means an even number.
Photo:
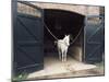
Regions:
<svg viewBox="0 0 109 82"><path fill-rule="evenodd" d="M84 15L64 10L45 9L44 16L46 25L58 39L62 39L64 35L70 34L70 43L72 43L77 36L76 40L69 47L68 57L82 61ZM44 27L45 58L53 57L59 59L55 40L55 37Z"/></svg>

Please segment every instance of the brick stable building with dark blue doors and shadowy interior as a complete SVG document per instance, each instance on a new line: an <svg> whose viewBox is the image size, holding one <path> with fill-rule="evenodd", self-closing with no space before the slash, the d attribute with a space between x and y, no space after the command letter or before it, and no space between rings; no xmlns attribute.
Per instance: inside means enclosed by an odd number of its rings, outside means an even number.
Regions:
<svg viewBox="0 0 109 82"><path fill-rule="evenodd" d="M14 71L41 70L45 58L58 59L50 32L59 39L72 36L68 57L85 63L102 61L104 7L17 1L12 8Z"/></svg>

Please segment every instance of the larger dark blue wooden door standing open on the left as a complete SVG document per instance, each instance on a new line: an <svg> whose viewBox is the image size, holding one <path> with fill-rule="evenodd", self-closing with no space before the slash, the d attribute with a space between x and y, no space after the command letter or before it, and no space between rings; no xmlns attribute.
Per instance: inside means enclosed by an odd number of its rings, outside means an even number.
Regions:
<svg viewBox="0 0 109 82"><path fill-rule="evenodd" d="M27 1L12 2L13 69L32 72L44 68L43 10Z"/></svg>

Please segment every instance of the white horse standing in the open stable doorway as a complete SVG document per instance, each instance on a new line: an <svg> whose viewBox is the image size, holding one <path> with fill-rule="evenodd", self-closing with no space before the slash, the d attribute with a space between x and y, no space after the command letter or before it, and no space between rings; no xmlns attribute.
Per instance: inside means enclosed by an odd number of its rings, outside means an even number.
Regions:
<svg viewBox="0 0 109 82"><path fill-rule="evenodd" d="M59 59L61 61L66 61L66 52L68 52L69 46L70 46L70 35L65 35L63 39L57 40Z"/></svg>

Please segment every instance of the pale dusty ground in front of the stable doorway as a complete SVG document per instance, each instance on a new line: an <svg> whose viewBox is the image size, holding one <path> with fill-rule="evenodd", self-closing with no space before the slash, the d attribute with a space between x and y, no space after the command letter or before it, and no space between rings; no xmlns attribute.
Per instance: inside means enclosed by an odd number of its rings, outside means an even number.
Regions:
<svg viewBox="0 0 109 82"><path fill-rule="evenodd" d="M104 75L104 62L87 65L68 57L66 62L61 62L57 57L46 57L45 68L40 71L19 75L19 80L59 79L75 77ZM16 80L16 79L15 79Z"/></svg>

